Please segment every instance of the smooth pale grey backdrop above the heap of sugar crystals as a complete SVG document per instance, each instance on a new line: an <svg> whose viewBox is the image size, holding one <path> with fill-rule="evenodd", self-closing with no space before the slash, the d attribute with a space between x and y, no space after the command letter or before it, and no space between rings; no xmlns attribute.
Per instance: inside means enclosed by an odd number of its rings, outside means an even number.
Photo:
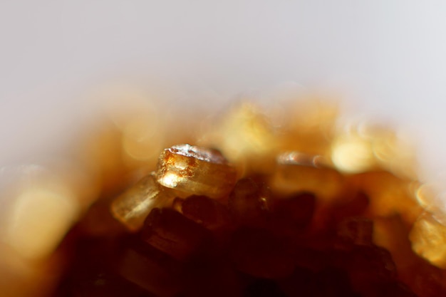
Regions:
<svg viewBox="0 0 446 297"><path fill-rule="evenodd" d="M82 98L96 83L155 77L219 98L287 81L343 90L446 169L442 0L1 0L0 165L63 142L93 116Z"/></svg>

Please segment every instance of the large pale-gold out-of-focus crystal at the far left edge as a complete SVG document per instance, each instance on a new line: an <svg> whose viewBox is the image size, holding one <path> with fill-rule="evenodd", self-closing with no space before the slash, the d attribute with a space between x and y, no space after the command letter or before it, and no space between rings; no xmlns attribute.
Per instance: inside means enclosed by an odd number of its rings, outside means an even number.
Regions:
<svg viewBox="0 0 446 297"><path fill-rule="evenodd" d="M22 168L9 200L1 241L26 259L44 259L78 218L78 197L64 180L37 165Z"/></svg>

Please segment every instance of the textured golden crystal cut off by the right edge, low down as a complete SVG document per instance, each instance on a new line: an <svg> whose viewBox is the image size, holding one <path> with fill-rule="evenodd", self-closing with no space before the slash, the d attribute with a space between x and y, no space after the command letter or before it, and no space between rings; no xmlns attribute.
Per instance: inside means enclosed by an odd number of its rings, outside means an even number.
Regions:
<svg viewBox="0 0 446 297"><path fill-rule="evenodd" d="M431 264L446 269L446 226L431 214L422 214L413 224L409 239L418 256Z"/></svg>

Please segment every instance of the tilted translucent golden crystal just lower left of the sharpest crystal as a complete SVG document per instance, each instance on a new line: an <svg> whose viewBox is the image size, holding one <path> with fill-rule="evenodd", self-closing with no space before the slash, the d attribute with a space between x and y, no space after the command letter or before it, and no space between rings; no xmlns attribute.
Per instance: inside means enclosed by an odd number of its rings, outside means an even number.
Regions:
<svg viewBox="0 0 446 297"><path fill-rule="evenodd" d="M130 231L138 231L152 209L172 202L173 196L155 180L154 174L140 179L111 204L113 217Z"/></svg>

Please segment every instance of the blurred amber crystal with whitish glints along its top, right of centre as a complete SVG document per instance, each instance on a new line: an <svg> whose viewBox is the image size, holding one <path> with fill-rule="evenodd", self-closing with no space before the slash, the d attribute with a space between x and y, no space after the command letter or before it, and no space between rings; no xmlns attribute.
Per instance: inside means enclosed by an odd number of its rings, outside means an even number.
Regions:
<svg viewBox="0 0 446 297"><path fill-rule="evenodd" d="M271 187L281 192L313 192L321 199L336 197L343 177L325 165L323 157L286 152L277 157Z"/></svg>

